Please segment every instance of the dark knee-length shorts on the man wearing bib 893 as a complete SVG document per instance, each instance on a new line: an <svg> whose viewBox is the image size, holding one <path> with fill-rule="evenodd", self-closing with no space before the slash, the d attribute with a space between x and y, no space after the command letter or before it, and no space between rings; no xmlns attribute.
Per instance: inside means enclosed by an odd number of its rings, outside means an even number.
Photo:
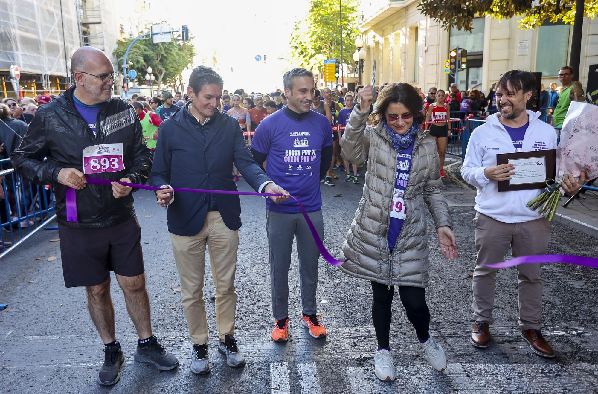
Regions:
<svg viewBox="0 0 598 394"><path fill-rule="evenodd" d="M65 286L97 286L110 271L121 276L144 273L141 227L137 216L108 227L58 226Z"/></svg>

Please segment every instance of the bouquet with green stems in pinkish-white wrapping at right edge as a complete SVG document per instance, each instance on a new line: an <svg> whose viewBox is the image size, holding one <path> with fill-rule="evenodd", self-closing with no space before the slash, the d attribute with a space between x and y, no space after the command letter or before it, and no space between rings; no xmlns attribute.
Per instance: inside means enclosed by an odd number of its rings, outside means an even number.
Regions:
<svg viewBox="0 0 598 394"><path fill-rule="evenodd" d="M582 172L585 179L598 178L598 106L572 102L557 147L557 179L568 174L579 179ZM549 185L549 181L554 183ZM547 179L544 193L529 201L527 207L540 209L538 215L553 221L562 195L560 187L559 182Z"/></svg>

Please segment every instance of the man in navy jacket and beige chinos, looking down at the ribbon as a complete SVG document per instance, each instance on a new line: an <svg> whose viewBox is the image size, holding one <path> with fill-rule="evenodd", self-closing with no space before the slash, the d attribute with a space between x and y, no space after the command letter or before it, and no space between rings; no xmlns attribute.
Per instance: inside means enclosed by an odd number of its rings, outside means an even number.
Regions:
<svg viewBox="0 0 598 394"><path fill-rule="evenodd" d="M191 371L196 374L210 372L203 300L206 245L216 288L218 350L229 366L245 364L233 336L241 204L236 194L178 193L175 198L172 187L236 191L234 164L255 191L282 195L270 197L275 202L289 198L289 193L274 184L255 162L239 122L218 111L222 85L222 78L213 69L199 66L193 70L187 87L191 102L160 125L149 179L151 185L164 189L157 193L158 204L169 208L168 231L194 343Z"/></svg>

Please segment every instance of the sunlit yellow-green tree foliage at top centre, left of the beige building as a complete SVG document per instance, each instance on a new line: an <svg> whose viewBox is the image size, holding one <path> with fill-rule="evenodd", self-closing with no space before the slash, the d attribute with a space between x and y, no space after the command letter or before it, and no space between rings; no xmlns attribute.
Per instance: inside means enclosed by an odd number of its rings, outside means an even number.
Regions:
<svg viewBox="0 0 598 394"><path fill-rule="evenodd" d="M358 6L355 0L343 1L343 63L353 63ZM307 16L295 22L291 35L291 56L306 69L323 70L325 59L340 60L340 20L338 0L312 0Z"/></svg>

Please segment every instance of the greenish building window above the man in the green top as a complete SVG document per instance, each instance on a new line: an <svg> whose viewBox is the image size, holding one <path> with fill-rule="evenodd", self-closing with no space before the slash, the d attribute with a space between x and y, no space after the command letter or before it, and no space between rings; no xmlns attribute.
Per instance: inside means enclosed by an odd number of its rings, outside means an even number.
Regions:
<svg viewBox="0 0 598 394"><path fill-rule="evenodd" d="M536 47L536 72L542 77L554 77L559 68L567 65L569 51L569 29L562 20L542 23L538 28L538 45Z"/></svg>

